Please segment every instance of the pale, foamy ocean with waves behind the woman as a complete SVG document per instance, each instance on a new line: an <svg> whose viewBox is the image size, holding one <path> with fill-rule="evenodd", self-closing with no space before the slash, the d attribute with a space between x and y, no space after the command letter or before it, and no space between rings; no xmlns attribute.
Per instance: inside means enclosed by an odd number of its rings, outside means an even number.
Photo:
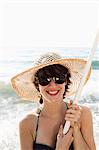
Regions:
<svg viewBox="0 0 99 150"><path fill-rule="evenodd" d="M40 54L47 51L60 53L64 58L84 58L89 48L33 48L0 51L0 150L19 149L19 121L38 103L23 101L13 91L10 79L31 68ZM93 115L94 137L99 150L99 49L92 62L92 73L82 91L79 104L88 106Z"/></svg>

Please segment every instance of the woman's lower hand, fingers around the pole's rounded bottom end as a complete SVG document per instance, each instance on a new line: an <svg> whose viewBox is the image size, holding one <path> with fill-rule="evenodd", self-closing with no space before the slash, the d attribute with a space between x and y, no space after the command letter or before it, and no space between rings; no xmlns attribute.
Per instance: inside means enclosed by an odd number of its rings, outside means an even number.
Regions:
<svg viewBox="0 0 99 150"><path fill-rule="evenodd" d="M58 135L56 150L69 150L71 143L73 142L73 129L70 128L67 134L63 134L63 126L60 126Z"/></svg>

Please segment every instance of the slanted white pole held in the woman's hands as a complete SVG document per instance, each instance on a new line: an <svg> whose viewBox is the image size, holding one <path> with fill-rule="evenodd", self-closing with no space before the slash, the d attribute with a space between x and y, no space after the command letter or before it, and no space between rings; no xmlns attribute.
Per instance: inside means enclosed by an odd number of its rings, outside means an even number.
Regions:
<svg viewBox="0 0 99 150"><path fill-rule="evenodd" d="M82 80L81 80L81 82L80 82L80 84L78 86L77 93L76 93L76 95L74 97L74 104L77 104L78 100L80 99L81 92L82 92L84 83L86 81L86 77L87 77L88 72L89 72L90 67L91 67L92 59L93 59L95 51L97 49L98 41L99 41L99 31L96 34L96 37L95 37L95 40L94 40L94 43L93 43L90 55L88 57L88 61L86 63L85 69L84 69L84 75L83 75ZM70 128L70 121L66 121L63 133L66 134L68 132L69 128Z"/></svg>

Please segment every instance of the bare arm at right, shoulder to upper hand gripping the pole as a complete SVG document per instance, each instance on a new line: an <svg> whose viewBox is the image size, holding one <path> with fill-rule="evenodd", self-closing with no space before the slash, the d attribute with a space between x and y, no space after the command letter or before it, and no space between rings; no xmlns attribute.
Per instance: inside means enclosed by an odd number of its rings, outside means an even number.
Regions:
<svg viewBox="0 0 99 150"><path fill-rule="evenodd" d="M71 121L74 129L74 149L75 150L96 150L93 136L92 114L87 107L77 108L72 105L67 110L66 120Z"/></svg>

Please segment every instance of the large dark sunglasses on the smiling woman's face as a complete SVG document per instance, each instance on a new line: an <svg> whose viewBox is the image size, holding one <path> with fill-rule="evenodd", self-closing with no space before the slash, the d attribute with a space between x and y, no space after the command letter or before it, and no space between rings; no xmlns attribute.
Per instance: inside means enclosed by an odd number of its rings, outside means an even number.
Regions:
<svg viewBox="0 0 99 150"><path fill-rule="evenodd" d="M51 81L56 84L63 84L66 81L66 75L60 77L39 77L38 78L39 84L42 86L48 85Z"/></svg>

